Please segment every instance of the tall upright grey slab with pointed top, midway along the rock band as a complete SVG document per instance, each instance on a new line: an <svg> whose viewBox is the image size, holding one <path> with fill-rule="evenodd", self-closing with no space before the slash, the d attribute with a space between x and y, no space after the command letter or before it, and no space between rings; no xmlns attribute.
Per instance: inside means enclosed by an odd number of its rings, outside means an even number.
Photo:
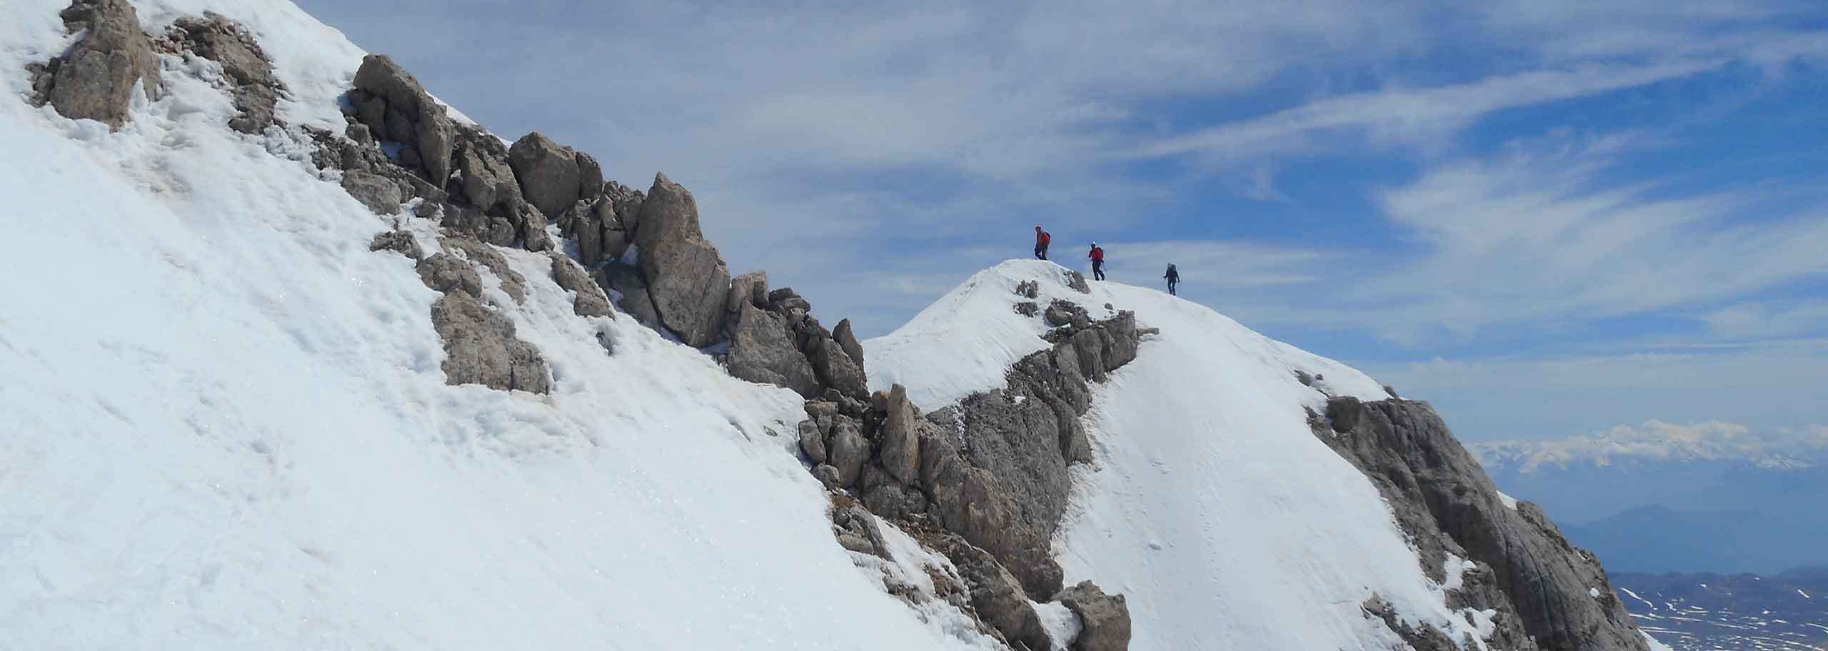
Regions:
<svg viewBox="0 0 1828 651"><path fill-rule="evenodd" d="M658 174L638 221L634 243L642 247L642 276L660 322L686 346L713 344L728 318L729 267L704 240L698 203L689 190Z"/></svg>

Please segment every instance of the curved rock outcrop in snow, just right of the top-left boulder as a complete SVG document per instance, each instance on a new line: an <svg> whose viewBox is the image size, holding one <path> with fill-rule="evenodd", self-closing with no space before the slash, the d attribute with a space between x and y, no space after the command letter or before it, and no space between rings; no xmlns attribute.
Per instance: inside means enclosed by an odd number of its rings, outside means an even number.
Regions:
<svg viewBox="0 0 1828 651"><path fill-rule="evenodd" d="M260 133L274 124L272 108L285 84L272 75L272 62L247 29L214 11L201 18L185 16L172 24L172 44L223 66L223 75L234 82L236 117L228 128L241 133Z"/></svg>

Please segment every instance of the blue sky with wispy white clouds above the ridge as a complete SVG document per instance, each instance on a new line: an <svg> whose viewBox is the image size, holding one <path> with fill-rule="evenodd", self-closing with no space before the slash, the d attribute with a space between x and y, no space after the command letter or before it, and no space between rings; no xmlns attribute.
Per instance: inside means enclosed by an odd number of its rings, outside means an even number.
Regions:
<svg viewBox="0 0 1828 651"><path fill-rule="evenodd" d="M1821 2L302 5L865 335L1046 223L1466 439L1828 421Z"/></svg>

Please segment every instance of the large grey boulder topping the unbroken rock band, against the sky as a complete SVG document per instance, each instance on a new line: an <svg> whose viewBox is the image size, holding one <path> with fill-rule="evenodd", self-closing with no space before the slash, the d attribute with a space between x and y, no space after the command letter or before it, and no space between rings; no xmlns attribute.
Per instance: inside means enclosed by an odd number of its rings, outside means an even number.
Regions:
<svg viewBox="0 0 1828 651"><path fill-rule="evenodd" d="M362 57L362 68L355 71L355 88L362 91L362 97L351 95L351 101L358 102L362 123L382 139L411 144L409 155L417 157L426 181L444 187L452 176L452 148L457 135L444 106L439 106L426 88L388 55ZM402 152L402 161L406 155Z"/></svg>

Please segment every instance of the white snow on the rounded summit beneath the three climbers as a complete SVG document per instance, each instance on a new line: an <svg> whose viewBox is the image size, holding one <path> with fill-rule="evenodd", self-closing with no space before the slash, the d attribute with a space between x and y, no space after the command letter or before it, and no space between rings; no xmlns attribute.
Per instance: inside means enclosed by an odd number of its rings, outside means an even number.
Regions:
<svg viewBox="0 0 1828 651"><path fill-rule="evenodd" d="M1066 298L1097 318L1108 302L1161 327L1095 388L1097 461L1075 468L1055 541L1068 583L1126 594L1132 649L1389 649L1360 611L1373 592L1453 638L1477 635L1479 614L1446 607L1376 488L1309 432L1302 408L1325 397L1292 371L1323 375L1334 395L1382 388L1203 305L1110 282L1088 296L1058 265L1005 261L865 342L872 382L910 382L923 408L1002 386L1004 366L1047 346L1042 320L1013 309L1024 280L1044 305Z"/></svg>

